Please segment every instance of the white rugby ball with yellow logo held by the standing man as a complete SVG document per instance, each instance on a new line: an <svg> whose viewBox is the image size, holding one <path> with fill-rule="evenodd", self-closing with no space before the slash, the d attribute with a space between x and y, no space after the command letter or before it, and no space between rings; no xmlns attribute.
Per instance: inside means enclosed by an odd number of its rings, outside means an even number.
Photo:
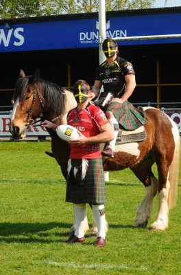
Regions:
<svg viewBox="0 0 181 275"><path fill-rule="evenodd" d="M69 140L76 140L78 137L80 137L80 135L77 133L77 129L67 124L59 125L56 129L56 133L62 140L65 140L66 142L69 142Z"/></svg>

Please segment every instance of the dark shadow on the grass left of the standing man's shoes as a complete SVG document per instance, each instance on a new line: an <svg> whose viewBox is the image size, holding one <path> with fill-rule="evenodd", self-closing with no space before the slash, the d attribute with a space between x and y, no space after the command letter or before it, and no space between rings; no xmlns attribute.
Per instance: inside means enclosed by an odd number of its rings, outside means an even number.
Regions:
<svg viewBox="0 0 181 275"><path fill-rule="evenodd" d="M70 223L0 223L0 242L53 243L64 241L69 235ZM58 232L65 228L66 232Z"/></svg>

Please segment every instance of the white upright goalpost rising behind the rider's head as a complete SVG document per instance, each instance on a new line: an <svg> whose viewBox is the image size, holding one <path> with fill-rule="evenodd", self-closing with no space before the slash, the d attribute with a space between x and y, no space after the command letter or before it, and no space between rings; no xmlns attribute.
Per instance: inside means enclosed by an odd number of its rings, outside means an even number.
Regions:
<svg viewBox="0 0 181 275"><path fill-rule="evenodd" d="M104 39L106 39L106 4L105 0L99 0L99 64L106 59L102 52Z"/></svg>

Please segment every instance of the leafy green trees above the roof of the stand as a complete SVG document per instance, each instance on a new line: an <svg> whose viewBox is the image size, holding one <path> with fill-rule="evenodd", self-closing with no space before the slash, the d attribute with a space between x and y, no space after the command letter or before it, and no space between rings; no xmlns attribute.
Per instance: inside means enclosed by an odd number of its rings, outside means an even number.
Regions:
<svg viewBox="0 0 181 275"><path fill-rule="evenodd" d="M156 0L106 0L106 11L151 8ZM98 0L1 0L0 19L98 11Z"/></svg>

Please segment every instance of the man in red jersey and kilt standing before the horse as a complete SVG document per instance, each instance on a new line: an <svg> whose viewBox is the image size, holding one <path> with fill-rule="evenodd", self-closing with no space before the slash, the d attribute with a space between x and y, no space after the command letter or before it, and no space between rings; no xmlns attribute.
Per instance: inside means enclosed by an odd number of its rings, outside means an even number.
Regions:
<svg viewBox="0 0 181 275"><path fill-rule="evenodd" d="M73 94L77 107L69 111L67 124L74 126L80 137L70 140L71 155L68 163L66 201L74 205L75 234L66 243L82 243L84 237L84 219L86 203L93 209L93 217L97 224L95 246L106 245L106 188L104 170L101 159L100 143L114 138L112 127L101 109L89 102L90 87L85 80L78 80L73 86ZM47 128L58 126L45 120Z"/></svg>

